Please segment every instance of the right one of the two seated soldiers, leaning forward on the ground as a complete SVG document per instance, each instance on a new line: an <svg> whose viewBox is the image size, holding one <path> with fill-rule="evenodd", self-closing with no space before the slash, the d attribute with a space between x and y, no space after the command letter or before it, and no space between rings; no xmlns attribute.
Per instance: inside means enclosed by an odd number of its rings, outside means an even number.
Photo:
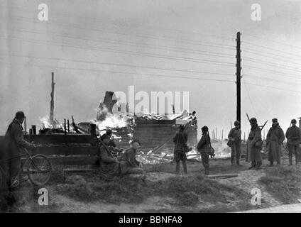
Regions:
<svg viewBox="0 0 301 227"><path fill-rule="evenodd" d="M143 166L136 160L136 152L140 148L140 141L133 139L131 148L126 150L120 160L121 175L143 175Z"/></svg>

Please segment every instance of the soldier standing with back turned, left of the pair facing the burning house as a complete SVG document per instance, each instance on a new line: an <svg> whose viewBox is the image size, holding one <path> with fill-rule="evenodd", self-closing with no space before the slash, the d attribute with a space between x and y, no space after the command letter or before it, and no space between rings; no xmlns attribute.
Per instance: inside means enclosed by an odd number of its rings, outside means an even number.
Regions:
<svg viewBox="0 0 301 227"><path fill-rule="evenodd" d="M173 142L175 143L175 150L174 150L174 159L175 159L175 173L180 173L180 161L182 161L183 164L183 171L185 174L187 174L187 165L186 165L186 152L187 150L187 134L184 132L185 127L180 126L179 132L175 134L175 137L173 138Z"/></svg>

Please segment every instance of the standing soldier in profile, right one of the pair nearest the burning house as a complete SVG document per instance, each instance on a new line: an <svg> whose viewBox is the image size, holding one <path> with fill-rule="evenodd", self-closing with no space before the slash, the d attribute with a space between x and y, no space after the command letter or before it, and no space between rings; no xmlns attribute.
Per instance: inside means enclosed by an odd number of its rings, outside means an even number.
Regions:
<svg viewBox="0 0 301 227"><path fill-rule="evenodd" d="M209 153L210 153L210 136L209 128L204 126L202 129L202 138L197 144L197 151L201 153L202 164L204 166L205 175L209 175Z"/></svg>

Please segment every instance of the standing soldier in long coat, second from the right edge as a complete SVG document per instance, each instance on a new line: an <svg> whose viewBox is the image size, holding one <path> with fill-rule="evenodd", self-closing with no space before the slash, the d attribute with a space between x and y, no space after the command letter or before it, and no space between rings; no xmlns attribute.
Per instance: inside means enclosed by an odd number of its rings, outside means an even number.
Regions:
<svg viewBox="0 0 301 227"><path fill-rule="evenodd" d="M281 158L281 145L285 140L285 135L280 128L278 120L273 118L272 120L272 127L268 131L268 135L266 135L266 144L268 148L268 160L270 161L269 166L274 165L274 161L280 165L280 158Z"/></svg>

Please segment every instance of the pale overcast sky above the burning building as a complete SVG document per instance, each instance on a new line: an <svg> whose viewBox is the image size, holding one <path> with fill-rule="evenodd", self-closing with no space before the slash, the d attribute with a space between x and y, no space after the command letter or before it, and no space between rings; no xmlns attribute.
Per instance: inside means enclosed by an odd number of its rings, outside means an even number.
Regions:
<svg viewBox="0 0 301 227"><path fill-rule="evenodd" d="M49 7L48 22L38 21L42 3ZM261 5L261 21L251 20L254 3ZM71 115L89 121L106 91L127 93L134 85L136 92L149 94L190 92L199 126L217 127L219 136L224 129L225 137L236 118L238 31L242 130L249 129L246 113L261 124L269 120L268 127L278 118L285 130L301 116L300 1L1 0L0 5L1 134L18 110L26 112L29 126L49 115L55 72L60 121Z"/></svg>

